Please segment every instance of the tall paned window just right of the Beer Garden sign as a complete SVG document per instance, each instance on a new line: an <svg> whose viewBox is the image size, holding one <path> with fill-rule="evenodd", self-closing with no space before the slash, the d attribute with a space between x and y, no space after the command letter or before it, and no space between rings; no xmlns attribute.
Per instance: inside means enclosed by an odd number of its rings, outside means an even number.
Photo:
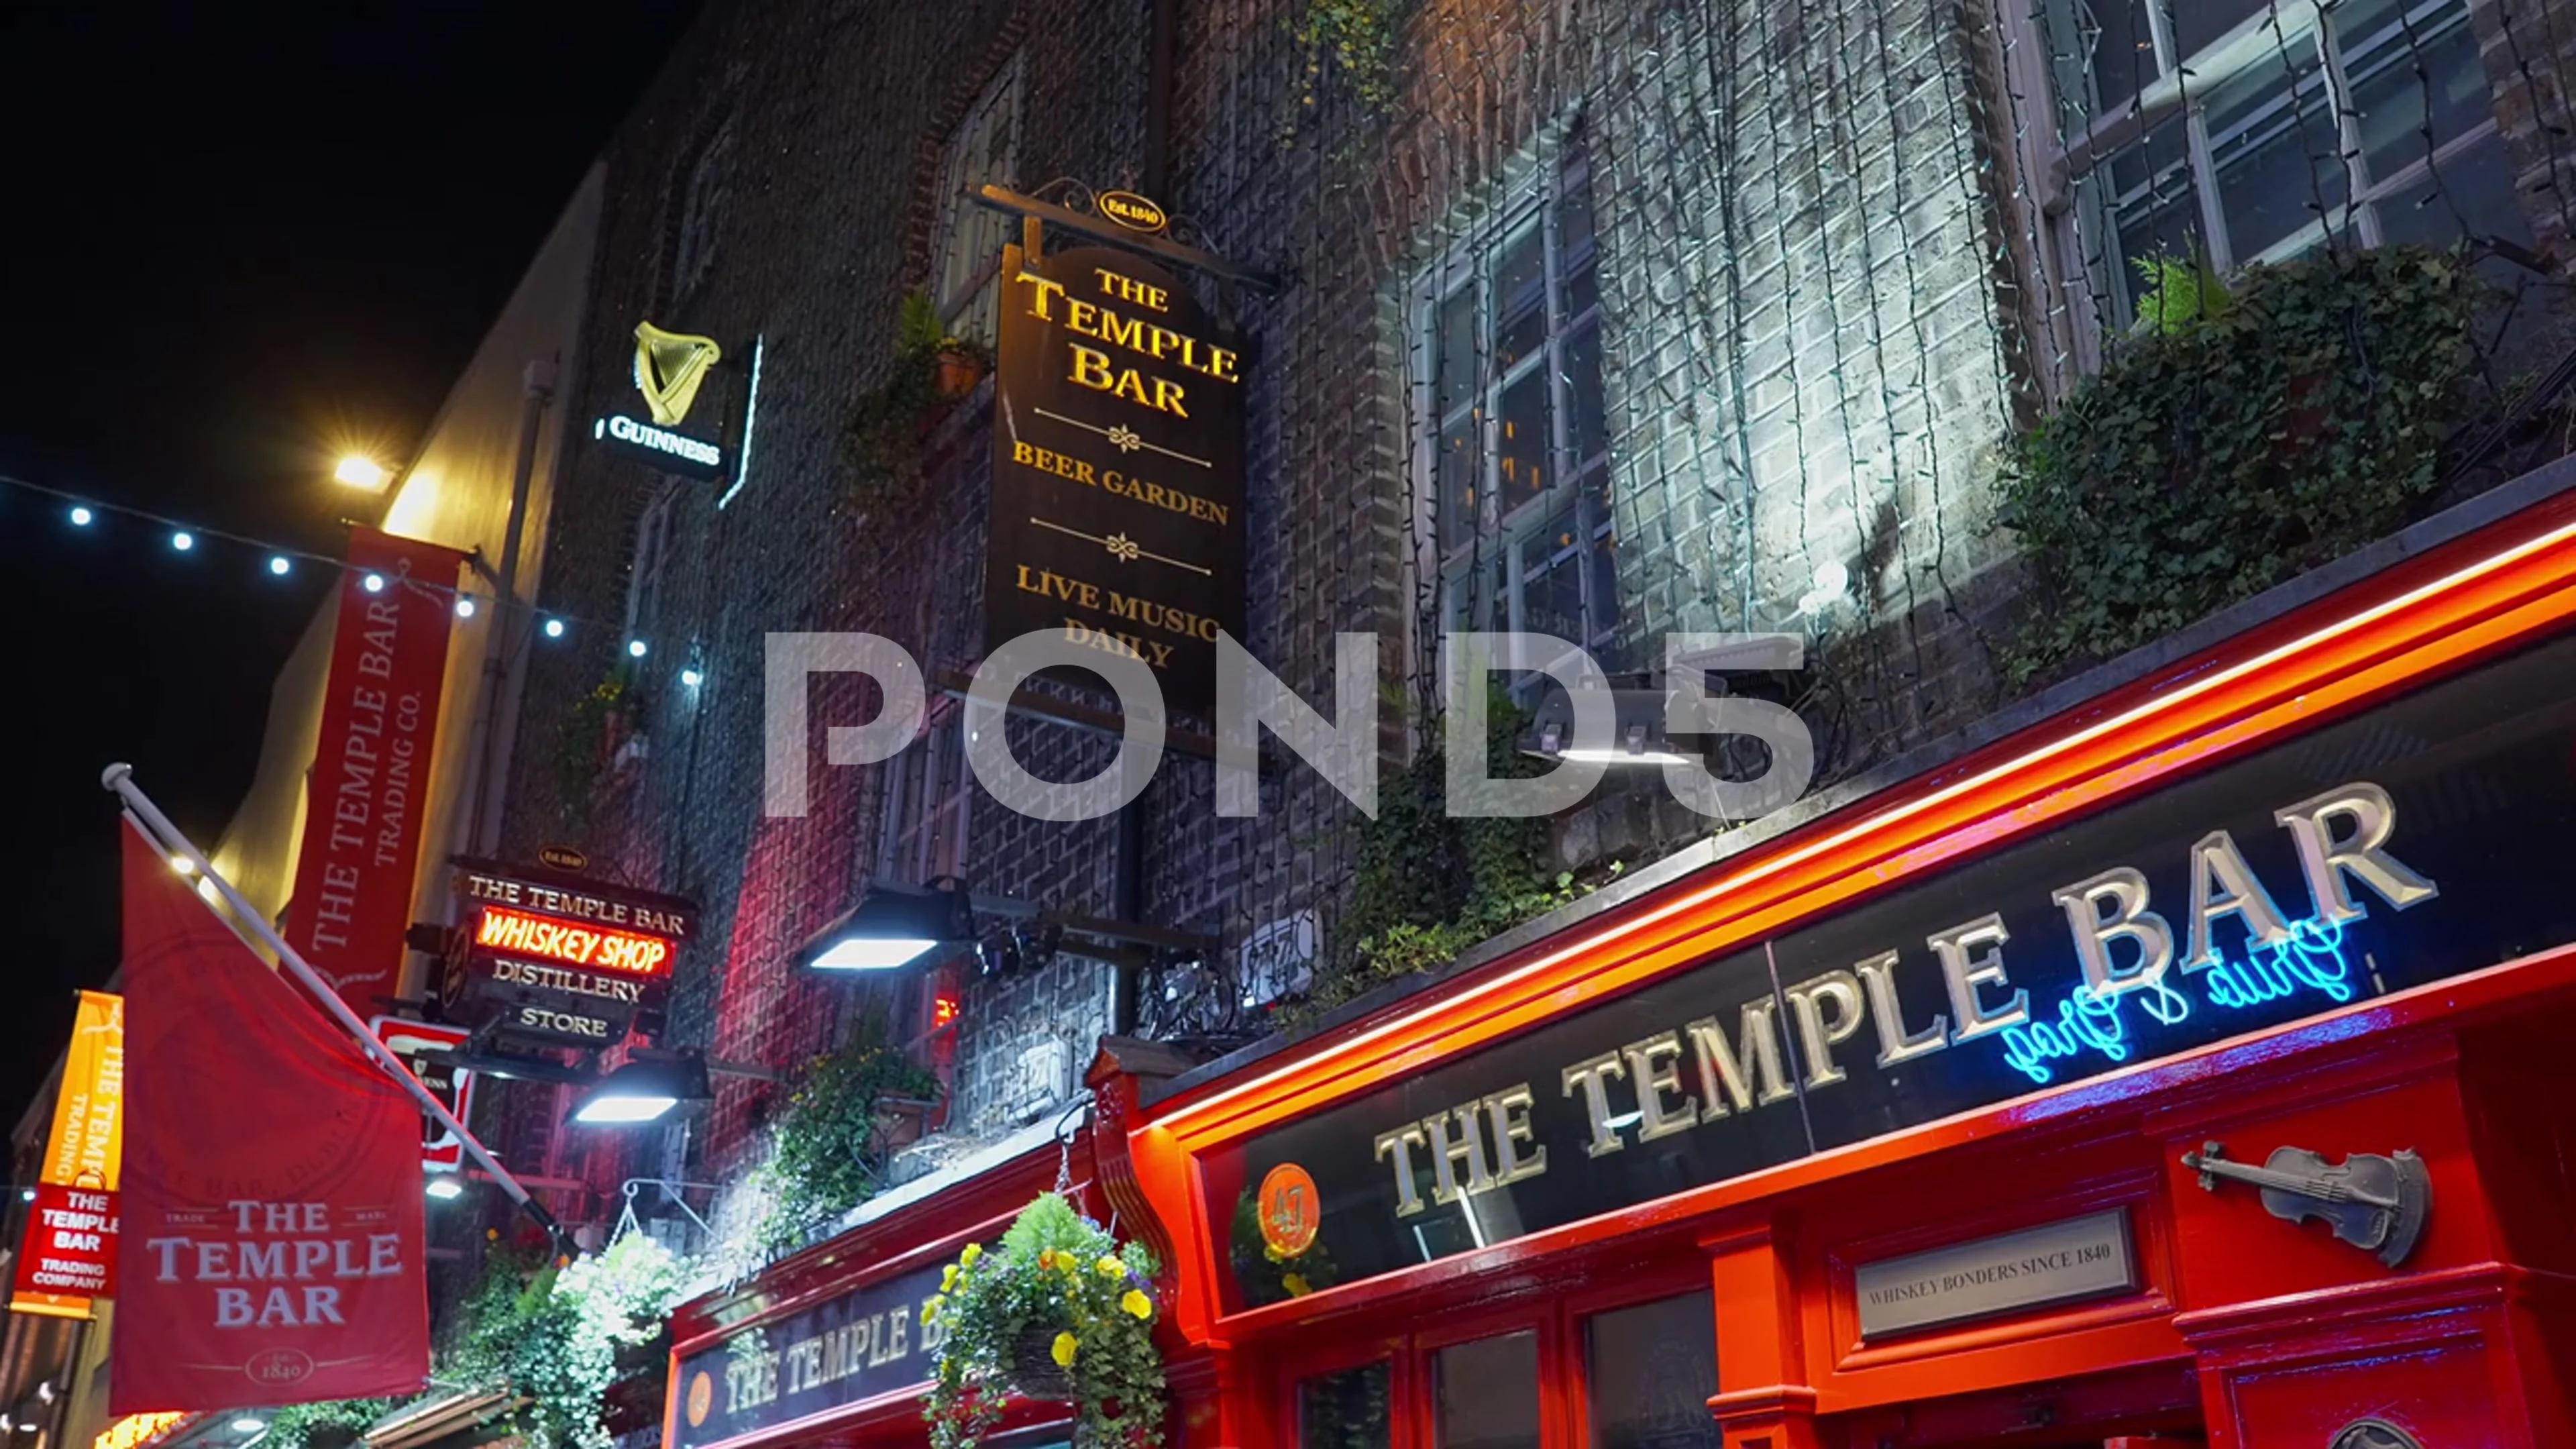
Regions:
<svg viewBox="0 0 2576 1449"><path fill-rule="evenodd" d="M1425 284L1417 338L1448 629L1556 634L1607 663L1618 572L1579 142Z"/></svg>

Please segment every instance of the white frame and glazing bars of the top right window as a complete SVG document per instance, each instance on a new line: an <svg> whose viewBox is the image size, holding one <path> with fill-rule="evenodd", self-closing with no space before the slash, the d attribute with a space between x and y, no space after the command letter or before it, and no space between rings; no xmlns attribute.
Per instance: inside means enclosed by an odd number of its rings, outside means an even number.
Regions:
<svg viewBox="0 0 2576 1449"><path fill-rule="evenodd" d="M2249 263L2272 263L2300 255L2316 248L2329 235L2349 235L2362 248L2375 248L2385 237L2385 222L2380 217L2383 206L2416 193L2434 170L2458 162L2463 155L2478 147L2501 144L2501 129L2494 111L2463 134L2442 142L2429 157L2411 157L2403 168L2391 175L2372 175L2370 160L2362 152L2362 116L2354 101L2354 83L2347 72L2344 54L2349 36L2342 36L2329 18L2334 5L2318 0L2275 0L2272 8L2259 10L2228 34L2218 36L2197 54L2177 57L2177 39L2172 23L2172 5L2190 5L2192 0L2159 0L2146 5L2151 44L2156 52L2156 77L2138 88L2133 98L2120 101L2110 111L2094 111L2092 95L2087 103L2069 106L2061 83L2066 75L2084 75L2089 80L2089 52L2092 44L2084 34L2056 36L2048 10L2056 8L2061 15L2074 10L2079 0L2032 0L2030 5L2014 5L2017 34L2014 41L2025 46L2025 54L2053 57L2069 54L2066 67L2053 67L2045 59L2027 67L2045 90L2048 113L2061 116L2069 124L2063 139L2038 137L2035 175L2048 178L2050 196L2045 211L2053 222L2053 255L2063 268L2066 278L2089 278L2092 286L2076 286L2074 307L2092 312L2102 299L2110 299L2115 317L2089 317L2094 325L2081 327L2084 335L2084 364L2094 366L2097 343L2105 330L2125 327L2128 317L2128 276L2130 258L2123 255L2117 235L2117 204L2110 193L2110 175L2099 168L2110 165L2110 157L2125 147L2146 139L2151 131L2172 121L2184 119L2184 175L2192 188L2195 222L2208 248L2208 263L2221 276L2233 273ZM2398 10L2411 36L2439 36L2455 26L2473 26L2468 13L2468 0L2414 0ZM2277 28L2275 28L2277 26ZM2419 44L2419 41L2398 41ZM2058 49L2063 46L2063 49ZM2344 152L2344 199L2324 217L2311 217L2298 229L2287 232L2277 242L2259 248L2251 255L2239 255L2236 242L2228 235L2223 186L2218 180L2218 147L2228 137L2210 137L2205 124L2202 103L2208 95L2221 90L2228 80L2244 70L2262 64L2282 52L2313 54L2316 77L2326 88L2324 106L2334 119L2339 131L2339 144ZM2290 103L2290 93L2267 106L2259 119L2269 119ZM2074 116L2084 116L2074 121ZM2251 126L2254 121L2246 121ZM2053 129L2053 126L2050 126ZM2166 175L2151 175L2148 188L2169 183Z"/></svg>

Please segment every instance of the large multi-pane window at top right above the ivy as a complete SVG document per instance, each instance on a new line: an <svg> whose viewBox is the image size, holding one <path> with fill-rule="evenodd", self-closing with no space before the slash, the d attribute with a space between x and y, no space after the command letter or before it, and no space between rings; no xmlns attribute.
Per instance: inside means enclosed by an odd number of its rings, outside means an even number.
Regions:
<svg viewBox="0 0 2576 1449"><path fill-rule="evenodd" d="M2226 273L2321 240L2527 242L2465 0L2043 0L2079 260Z"/></svg>

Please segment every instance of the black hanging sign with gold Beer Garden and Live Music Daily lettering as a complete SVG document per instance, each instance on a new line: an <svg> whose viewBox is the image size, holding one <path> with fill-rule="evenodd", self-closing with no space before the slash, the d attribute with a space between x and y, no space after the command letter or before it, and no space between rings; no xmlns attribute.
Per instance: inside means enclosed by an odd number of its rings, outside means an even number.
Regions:
<svg viewBox="0 0 2576 1449"><path fill-rule="evenodd" d="M1002 258L984 645L1048 632L1216 701L1244 632L1244 356L1167 271L1115 248Z"/></svg>

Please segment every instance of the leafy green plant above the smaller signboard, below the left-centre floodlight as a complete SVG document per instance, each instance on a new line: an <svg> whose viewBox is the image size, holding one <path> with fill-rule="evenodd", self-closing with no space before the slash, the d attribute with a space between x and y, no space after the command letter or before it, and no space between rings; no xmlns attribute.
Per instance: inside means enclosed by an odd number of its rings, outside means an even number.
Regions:
<svg viewBox="0 0 2576 1449"><path fill-rule="evenodd" d="M938 1101L940 1078L863 1026L850 1044L806 1062L775 1119L778 1150L757 1168L770 1209L757 1240L765 1253L876 1196L886 1171L878 1114L886 1098Z"/></svg>

